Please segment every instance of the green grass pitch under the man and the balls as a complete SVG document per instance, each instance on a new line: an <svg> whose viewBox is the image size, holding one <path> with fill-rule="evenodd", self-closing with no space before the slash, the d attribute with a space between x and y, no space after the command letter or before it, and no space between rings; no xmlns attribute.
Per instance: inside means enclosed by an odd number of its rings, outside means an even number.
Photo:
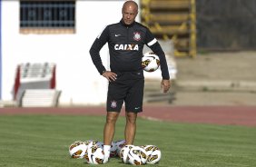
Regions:
<svg viewBox="0 0 256 167"><path fill-rule="evenodd" d="M103 142L104 116L0 115L0 166L95 166L71 159L69 145L78 140ZM123 139L124 118L114 140ZM155 144L161 167L256 166L256 128L227 125L162 123L139 118L134 145ZM129 166L113 158L103 166Z"/></svg>

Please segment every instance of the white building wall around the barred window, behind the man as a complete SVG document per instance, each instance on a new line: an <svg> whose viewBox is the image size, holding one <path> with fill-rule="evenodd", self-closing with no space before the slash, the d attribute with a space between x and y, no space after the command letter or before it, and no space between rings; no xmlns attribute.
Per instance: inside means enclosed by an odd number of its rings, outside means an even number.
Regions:
<svg viewBox="0 0 256 167"><path fill-rule="evenodd" d="M89 49L105 25L120 21L123 2L77 0L75 34L20 34L19 1L3 0L2 100L13 99L17 64L47 62L56 64L56 89L62 91L60 104L104 103L107 81L94 67ZM101 54L108 67L106 45Z"/></svg>

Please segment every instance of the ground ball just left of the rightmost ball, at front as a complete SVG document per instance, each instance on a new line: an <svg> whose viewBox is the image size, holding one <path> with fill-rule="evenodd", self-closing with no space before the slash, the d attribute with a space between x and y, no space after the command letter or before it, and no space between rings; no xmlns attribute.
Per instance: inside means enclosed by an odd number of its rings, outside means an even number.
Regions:
<svg viewBox="0 0 256 167"><path fill-rule="evenodd" d="M133 165L143 165L147 162L146 151L142 147L135 146L128 153L128 159Z"/></svg>

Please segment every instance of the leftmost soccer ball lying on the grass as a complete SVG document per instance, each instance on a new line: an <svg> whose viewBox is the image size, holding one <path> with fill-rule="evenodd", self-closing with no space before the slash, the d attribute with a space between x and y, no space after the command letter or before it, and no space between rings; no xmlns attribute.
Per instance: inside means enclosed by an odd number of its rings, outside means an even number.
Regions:
<svg viewBox="0 0 256 167"><path fill-rule="evenodd" d="M84 142L76 141L69 146L69 154L72 158L84 158L87 145Z"/></svg>

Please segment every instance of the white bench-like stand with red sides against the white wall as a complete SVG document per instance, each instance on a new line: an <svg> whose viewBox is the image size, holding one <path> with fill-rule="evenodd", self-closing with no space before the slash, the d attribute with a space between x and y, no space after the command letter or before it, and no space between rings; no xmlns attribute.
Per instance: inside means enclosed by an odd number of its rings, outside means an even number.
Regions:
<svg viewBox="0 0 256 167"><path fill-rule="evenodd" d="M18 64L13 91L14 100L22 107L52 107L58 103L55 90L55 64Z"/></svg>

